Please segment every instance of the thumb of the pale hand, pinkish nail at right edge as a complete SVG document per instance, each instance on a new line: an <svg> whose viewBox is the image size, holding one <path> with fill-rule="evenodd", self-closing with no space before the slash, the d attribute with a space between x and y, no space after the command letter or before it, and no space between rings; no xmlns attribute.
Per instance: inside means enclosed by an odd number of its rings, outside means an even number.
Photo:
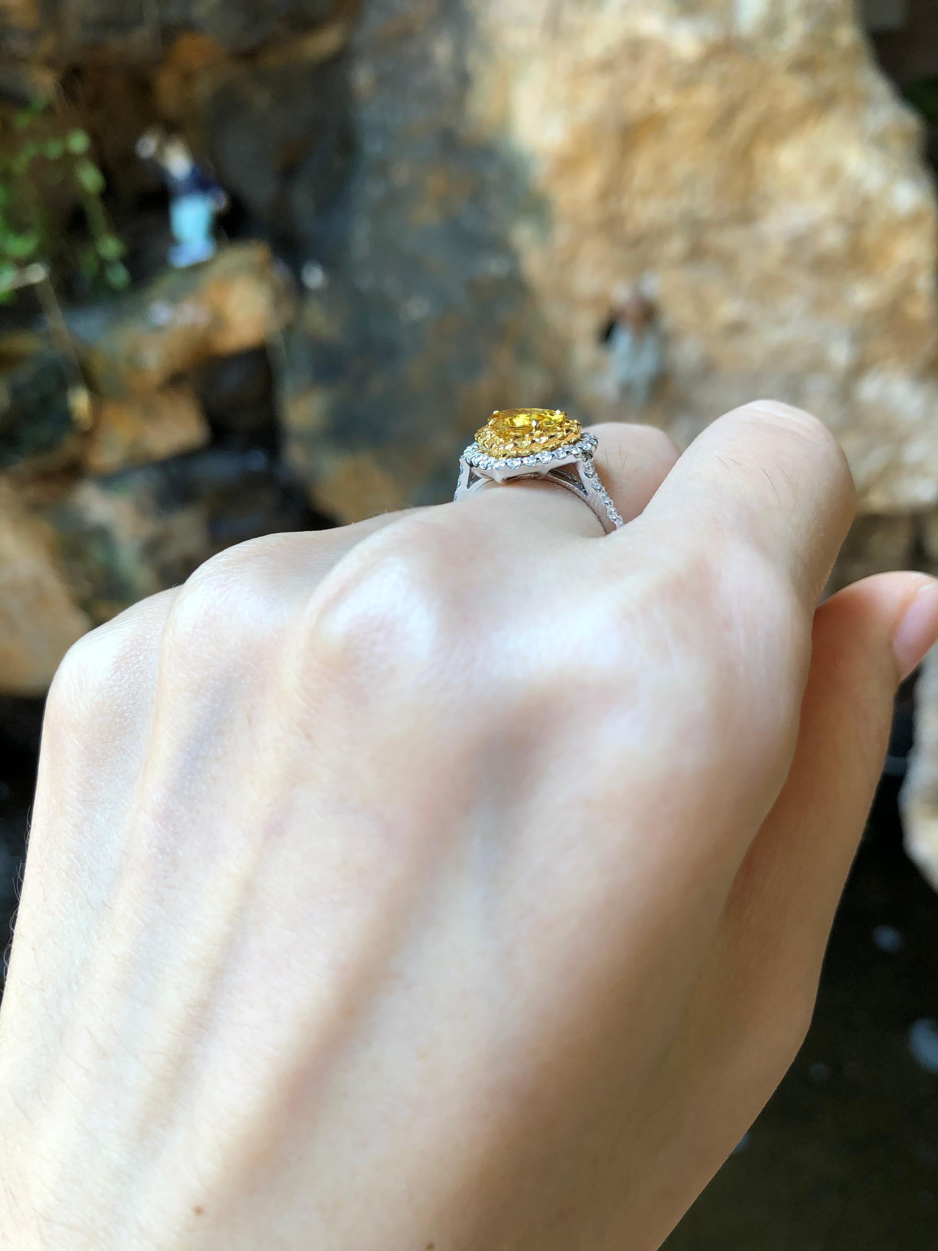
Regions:
<svg viewBox="0 0 938 1251"><path fill-rule="evenodd" d="M812 663L788 779L728 902L739 945L767 967L820 971L889 742L899 683L938 639L938 582L867 578L814 618Z"/></svg>

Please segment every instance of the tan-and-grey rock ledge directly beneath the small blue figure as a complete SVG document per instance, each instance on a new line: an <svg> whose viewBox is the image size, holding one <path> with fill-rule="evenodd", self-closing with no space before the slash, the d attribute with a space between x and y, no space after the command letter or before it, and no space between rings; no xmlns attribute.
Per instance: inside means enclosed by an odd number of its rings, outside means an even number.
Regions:
<svg viewBox="0 0 938 1251"><path fill-rule="evenodd" d="M240 243L103 310L76 314L73 332L94 389L120 399L156 392L209 357L261 347L291 311L289 281L270 249Z"/></svg>

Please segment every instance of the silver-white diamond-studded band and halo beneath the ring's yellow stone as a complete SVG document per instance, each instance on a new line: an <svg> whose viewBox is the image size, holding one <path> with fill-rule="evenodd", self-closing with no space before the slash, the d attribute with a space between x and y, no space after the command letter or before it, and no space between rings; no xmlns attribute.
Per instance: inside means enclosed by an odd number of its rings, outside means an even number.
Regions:
<svg viewBox="0 0 938 1251"><path fill-rule="evenodd" d="M540 478L582 499L593 509L605 533L612 534L625 523L599 479L593 460L598 445L599 440L594 434L584 434L578 443L554 448L553 452L499 460L487 455L478 443L473 443L459 462L456 499L465 499L492 482L504 485L519 479Z"/></svg>

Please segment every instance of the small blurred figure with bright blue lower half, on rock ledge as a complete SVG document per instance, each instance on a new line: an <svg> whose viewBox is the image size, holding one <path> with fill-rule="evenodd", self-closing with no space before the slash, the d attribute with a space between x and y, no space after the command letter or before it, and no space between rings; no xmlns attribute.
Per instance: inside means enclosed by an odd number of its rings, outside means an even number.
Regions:
<svg viewBox="0 0 938 1251"><path fill-rule="evenodd" d="M148 130L138 141L136 154L160 168L169 190L170 229L176 240L169 264L188 269L211 260L218 251L215 218L228 208L226 191L196 163L179 135Z"/></svg>

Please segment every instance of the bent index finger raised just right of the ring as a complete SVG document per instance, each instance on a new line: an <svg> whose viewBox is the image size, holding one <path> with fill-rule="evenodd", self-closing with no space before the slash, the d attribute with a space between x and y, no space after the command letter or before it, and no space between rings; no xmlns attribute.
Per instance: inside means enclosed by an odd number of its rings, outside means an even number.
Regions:
<svg viewBox="0 0 938 1251"><path fill-rule="evenodd" d="M790 578L813 610L854 507L847 459L827 427L802 409L755 400L694 440L642 524L667 527L672 543L742 539Z"/></svg>

